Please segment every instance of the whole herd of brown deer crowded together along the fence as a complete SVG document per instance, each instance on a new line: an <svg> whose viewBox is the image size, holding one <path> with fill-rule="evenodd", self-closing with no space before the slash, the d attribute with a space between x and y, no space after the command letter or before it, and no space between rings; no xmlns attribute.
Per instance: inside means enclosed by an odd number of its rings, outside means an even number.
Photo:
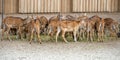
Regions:
<svg viewBox="0 0 120 60"><path fill-rule="evenodd" d="M98 42L103 42L105 37L118 38L119 22L112 18L102 18L98 15L88 17L82 15L74 17L71 15L57 15L47 19L45 16L37 17L13 17L7 16L2 23L2 37L4 40L6 37L11 41L12 29L16 33L17 39L29 38L31 44L34 35L37 36L37 40L41 44L41 35L49 35L51 38L55 36L56 42L61 35L63 40L67 43L66 35L73 37L74 41L86 39L88 41L94 41L95 38Z"/></svg>

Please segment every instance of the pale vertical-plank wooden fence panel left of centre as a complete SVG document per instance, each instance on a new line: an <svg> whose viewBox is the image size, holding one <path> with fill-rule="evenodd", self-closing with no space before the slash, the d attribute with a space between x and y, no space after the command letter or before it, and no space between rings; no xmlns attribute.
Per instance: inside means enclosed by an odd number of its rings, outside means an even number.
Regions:
<svg viewBox="0 0 120 60"><path fill-rule="evenodd" d="M19 12L59 12L59 2L60 0L19 0Z"/></svg>

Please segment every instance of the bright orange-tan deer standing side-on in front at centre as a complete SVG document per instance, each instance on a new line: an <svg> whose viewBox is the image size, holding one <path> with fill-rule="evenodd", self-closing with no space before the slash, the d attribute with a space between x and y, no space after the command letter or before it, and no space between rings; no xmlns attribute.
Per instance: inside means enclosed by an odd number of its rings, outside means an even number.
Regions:
<svg viewBox="0 0 120 60"><path fill-rule="evenodd" d="M59 20L58 24L59 25L57 26L56 42L57 42L57 38L58 38L60 32L62 32L62 38L64 39L64 41L66 43L68 42L65 38L66 32L73 32L74 41L75 42L77 41L76 35L77 35L77 32L81 25L81 21L61 19L61 20Z"/></svg>

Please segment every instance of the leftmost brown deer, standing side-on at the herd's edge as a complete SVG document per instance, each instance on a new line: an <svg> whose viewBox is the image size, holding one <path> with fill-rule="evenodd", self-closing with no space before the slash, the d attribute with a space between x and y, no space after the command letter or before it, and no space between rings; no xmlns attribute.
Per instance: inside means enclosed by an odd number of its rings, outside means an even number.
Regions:
<svg viewBox="0 0 120 60"><path fill-rule="evenodd" d="M7 33L7 38L11 41L10 38L10 29L15 28L17 29L17 35L21 36L20 32L20 26L23 25L24 19L20 17L13 17L13 16L8 16L3 20L3 29L2 29L2 40L4 38L4 33Z"/></svg>

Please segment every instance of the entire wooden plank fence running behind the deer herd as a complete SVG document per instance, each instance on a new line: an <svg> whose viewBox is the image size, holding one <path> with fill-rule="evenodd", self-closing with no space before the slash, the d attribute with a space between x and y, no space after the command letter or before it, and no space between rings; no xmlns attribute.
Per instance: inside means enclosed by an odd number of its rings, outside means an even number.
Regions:
<svg viewBox="0 0 120 60"><path fill-rule="evenodd" d="M120 11L120 0L4 0L4 1L5 1L4 3L5 13Z"/></svg>

